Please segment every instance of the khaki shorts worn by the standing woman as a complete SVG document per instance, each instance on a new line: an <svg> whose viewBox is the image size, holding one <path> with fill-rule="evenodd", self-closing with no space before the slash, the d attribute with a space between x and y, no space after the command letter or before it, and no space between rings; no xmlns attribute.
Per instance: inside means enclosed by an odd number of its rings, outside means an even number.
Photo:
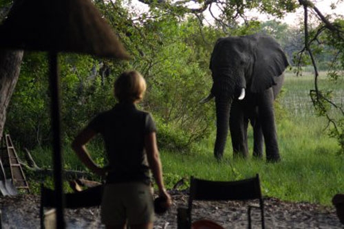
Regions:
<svg viewBox="0 0 344 229"><path fill-rule="evenodd" d="M109 226L151 223L154 221L153 192L142 182L107 184L100 217Z"/></svg>

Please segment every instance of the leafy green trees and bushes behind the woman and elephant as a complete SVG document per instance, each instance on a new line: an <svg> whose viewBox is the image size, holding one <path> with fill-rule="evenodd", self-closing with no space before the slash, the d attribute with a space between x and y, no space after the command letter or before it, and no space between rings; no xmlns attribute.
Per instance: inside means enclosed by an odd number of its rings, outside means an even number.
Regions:
<svg viewBox="0 0 344 229"><path fill-rule="evenodd" d="M275 36L290 60L298 54L292 62L295 65L312 63L310 56L300 52L311 49L321 67L330 67L332 78L342 77L337 70L344 66L343 19L329 23L330 16L321 17L312 1L140 2L142 5L125 0L94 1L131 54L130 61L59 55L65 140L73 138L96 113L114 106L114 80L127 69L138 70L147 80L147 96L140 107L153 113L161 130L158 139L162 146L184 149L191 142L206 138L214 128L214 109L212 104L200 105L198 101L210 90L208 61L220 36L264 31ZM11 3L0 1L1 19ZM261 23L255 17L248 17L249 12L255 11L279 19L300 7L319 19L314 28L305 27L310 28L309 34L301 34L300 28L289 28L275 20ZM309 49L304 47L306 41L310 41ZM47 144L51 137L46 59L43 53L25 53L8 111L6 128L26 147ZM319 93L312 95L319 96ZM318 101L330 100L327 95L330 94L324 93ZM323 114L326 113L327 109ZM343 135L342 126L336 125L338 139Z"/></svg>

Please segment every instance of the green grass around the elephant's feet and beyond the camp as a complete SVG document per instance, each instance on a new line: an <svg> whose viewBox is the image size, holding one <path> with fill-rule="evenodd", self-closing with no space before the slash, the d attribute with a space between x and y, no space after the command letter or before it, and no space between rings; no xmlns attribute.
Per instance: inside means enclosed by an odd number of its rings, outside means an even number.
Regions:
<svg viewBox="0 0 344 229"><path fill-rule="evenodd" d="M343 82L331 83L320 77L321 89L336 91L336 99L343 100ZM316 117L309 97L314 86L313 77L305 74L295 77L288 74L279 98L277 132L281 162L266 163L265 160L233 160L230 137L224 160L213 157L215 133L191 147L190 152L164 151L160 146L164 180L168 188L183 177L191 175L204 179L232 180L252 177L259 173L263 194L288 201L308 201L329 206L336 193L344 193L344 157L337 155L338 144L329 138L324 118ZM252 130L249 130L252 143ZM250 144L250 147L252 144ZM102 162L103 149L91 147L97 162ZM252 152L252 149L250 150ZM50 151L32 152L40 166L51 164ZM69 146L65 147L67 168L84 169ZM186 185L181 188L186 188Z"/></svg>

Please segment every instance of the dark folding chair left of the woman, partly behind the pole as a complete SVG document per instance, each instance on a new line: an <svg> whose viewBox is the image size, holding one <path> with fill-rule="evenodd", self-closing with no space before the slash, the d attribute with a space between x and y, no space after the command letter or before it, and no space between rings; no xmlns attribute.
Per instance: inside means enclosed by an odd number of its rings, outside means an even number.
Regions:
<svg viewBox="0 0 344 229"><path fill-rule="evenodd" d="M89 208L100 206L102 201L103 185L87 188L76 193L65 194L65 208ZM44 211L44 208L54 208L56 206L55 190L45 187L41 184L41 206L39 208L39 217L41 219L41 228L54 228L55 212L54 210ZM49 219L45 219L49 218Z"/></svg>

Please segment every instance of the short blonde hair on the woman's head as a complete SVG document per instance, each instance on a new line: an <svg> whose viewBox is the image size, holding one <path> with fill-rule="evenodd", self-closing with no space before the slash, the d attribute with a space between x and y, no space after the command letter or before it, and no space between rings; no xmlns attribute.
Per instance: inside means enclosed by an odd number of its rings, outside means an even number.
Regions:
<svg viewBox="0 0 344 229"><path fill-rule="evenodd" d="M132 70L120 74L114 84L114 93L120 102L139 102L146 88L146 80L140 72Z"/></svg>

